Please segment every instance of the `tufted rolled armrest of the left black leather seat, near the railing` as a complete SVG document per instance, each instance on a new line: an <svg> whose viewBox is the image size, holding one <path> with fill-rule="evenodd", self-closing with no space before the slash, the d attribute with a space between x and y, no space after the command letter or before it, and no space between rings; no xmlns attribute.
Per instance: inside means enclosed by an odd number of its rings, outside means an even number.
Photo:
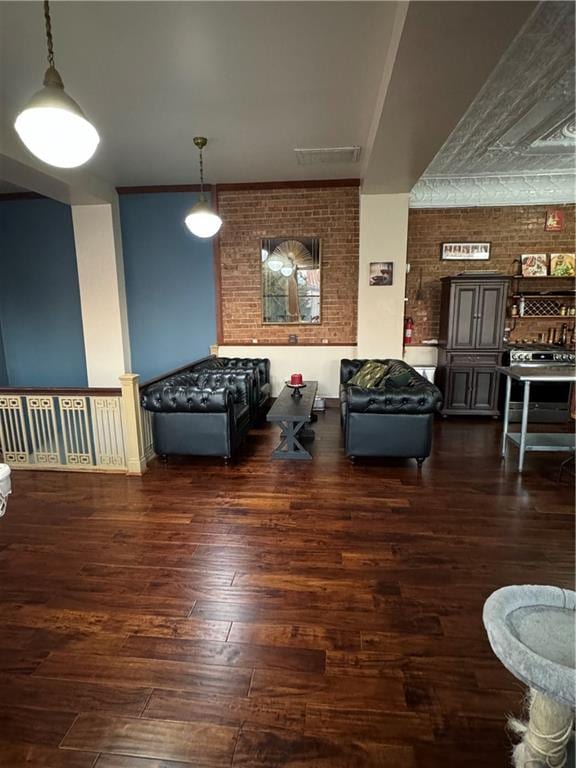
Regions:
<svg viewBox="0 0 576 768"><path fill-rule="evenodd" d="M140 399L147 411L156 413L226 413L234 407L228 387L204 387L193 384L154 385Z"/></svg>

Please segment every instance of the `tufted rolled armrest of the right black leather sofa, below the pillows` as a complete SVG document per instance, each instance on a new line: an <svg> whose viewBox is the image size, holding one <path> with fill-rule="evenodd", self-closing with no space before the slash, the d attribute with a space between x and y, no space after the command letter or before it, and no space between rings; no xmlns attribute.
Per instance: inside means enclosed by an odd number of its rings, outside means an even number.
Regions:
<svg viewBox="0 0 576 768"><path fill-rule="evenodd" d="M442 405L442 393L425 379L412 387L363 389L346 387L351 413L434 413Z"/></svg>

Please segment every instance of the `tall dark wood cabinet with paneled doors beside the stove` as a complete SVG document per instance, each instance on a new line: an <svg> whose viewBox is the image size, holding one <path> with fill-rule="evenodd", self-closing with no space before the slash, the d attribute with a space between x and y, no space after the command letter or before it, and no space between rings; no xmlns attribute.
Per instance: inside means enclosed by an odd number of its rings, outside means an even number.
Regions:
<svg viewBox="0 0 576 768"><path fill-rule="evenodd" d="M497 416L509 279L462 275L442 280L438 384L444 416Z"/></svg>

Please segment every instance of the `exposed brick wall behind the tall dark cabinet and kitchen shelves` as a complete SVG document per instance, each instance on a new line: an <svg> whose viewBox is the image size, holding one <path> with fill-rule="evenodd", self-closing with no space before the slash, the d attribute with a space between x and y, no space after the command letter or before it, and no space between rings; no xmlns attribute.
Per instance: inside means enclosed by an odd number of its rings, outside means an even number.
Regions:
<svg viewBox="0 0 576 768"><path fill-rule="evenodd" d="M545 232L544 222L549 208L564 210L564 229ZM490 241L489 261L441 261L443 242ZM440 278L458 272L494 269L512 274L512 262L522 253L574 253L574 205L506 206L498 208L412 209L408 218L407 315L414 320L414 343L438 338L440 320ZM424 300L416 301L420 269ZM566 289L566 282L552 280L530 284L550 290ZM533 338L551 325L574 320L521 320L511 338Z"/></svg>

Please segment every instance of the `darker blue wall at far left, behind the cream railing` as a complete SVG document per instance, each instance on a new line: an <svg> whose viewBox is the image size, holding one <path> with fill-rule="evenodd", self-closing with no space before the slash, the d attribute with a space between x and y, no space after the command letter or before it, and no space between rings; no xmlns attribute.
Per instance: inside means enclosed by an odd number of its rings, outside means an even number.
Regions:
<svg viewBox="0 0 576 768"><path fill-rule="evenodd" d="M0 201L0 327L10 386L87 385L69 206Z"/></svg>

